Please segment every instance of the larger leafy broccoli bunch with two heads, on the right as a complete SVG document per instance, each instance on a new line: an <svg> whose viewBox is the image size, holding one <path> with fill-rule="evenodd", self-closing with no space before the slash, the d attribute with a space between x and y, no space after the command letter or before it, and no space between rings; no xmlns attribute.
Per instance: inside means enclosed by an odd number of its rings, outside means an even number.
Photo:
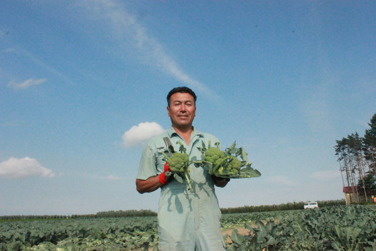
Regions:
<svg viewBox="0 0 376 251"><path fill-rule="evenodd" d="M225 151L219 149L219 143L211 146L209 141L208 148L202 141L202 146L199 147L204 160L198 161L196 158L191 161L195 166L202 166L209 169L210 174L222 178L251 178L259 177L261 173L251 167L252 162L248 163L247 153L243 147L236 148L236 143L232 143ZM240 156L241 161L238 159ZM244 168L242 168L244 167Z"/></svg>

